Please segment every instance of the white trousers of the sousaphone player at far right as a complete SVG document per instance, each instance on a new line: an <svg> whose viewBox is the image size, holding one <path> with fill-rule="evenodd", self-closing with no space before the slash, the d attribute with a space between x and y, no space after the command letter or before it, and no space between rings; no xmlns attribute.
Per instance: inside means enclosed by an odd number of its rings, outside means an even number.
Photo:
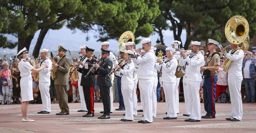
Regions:
<svg viewBox="0 0 256 133"><path fill-rule="evenodd" d="M242 120L243 116L243 106L241 98L241 83L243 77L238 76L229 76L228 75L228 85L229 85L229 94L231 100L232 111L230 113L230 118L236 118Z"/></svg>

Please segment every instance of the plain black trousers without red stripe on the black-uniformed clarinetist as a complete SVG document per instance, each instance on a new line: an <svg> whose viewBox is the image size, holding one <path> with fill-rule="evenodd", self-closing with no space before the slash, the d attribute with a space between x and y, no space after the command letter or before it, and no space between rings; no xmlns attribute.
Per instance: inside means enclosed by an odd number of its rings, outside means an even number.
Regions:
<svg viewBox="0 0 256 133"><path fill-rule="evenodd" d="M100 87L100 96L103 102L104 114L105 116L110 116L110 87L99 86Z"/></svg>

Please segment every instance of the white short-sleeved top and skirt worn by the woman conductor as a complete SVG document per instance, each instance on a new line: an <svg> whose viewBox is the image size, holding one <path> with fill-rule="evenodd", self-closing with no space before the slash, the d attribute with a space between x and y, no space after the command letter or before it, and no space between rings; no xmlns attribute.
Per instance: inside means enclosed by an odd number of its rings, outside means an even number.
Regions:
<svg viewBox="0 0 256 133"><path fill-rule="evenodd" d="M22 102L33 100L32 76L31 70L34 68L25 59L21 59L18 65L20 70L20 91Z"/></svg>

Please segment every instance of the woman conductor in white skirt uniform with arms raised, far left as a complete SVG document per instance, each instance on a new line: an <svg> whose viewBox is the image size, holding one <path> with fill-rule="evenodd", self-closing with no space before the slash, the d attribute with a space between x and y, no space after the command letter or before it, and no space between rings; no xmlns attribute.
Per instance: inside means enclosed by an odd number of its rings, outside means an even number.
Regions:
<svg viewBox="0 0 256 133"><path fill-rule="evenodd" d="M33 72L39 72L43 70L44 68L47 68L48 65L45 65L41 68L35 69L29 62L26 61L28 58L28 51L26 47L24 47L22 50L19 51L17 54L19 57L20 63L19 63L19 70L20 70L20 89L21 89L21 113L22 113L22 122L32 122L35 120L29 119L27 116L27 110L28 110L28 103L29 101L33 100L33 89L32 89L32 76L31 71Z"/></svg>

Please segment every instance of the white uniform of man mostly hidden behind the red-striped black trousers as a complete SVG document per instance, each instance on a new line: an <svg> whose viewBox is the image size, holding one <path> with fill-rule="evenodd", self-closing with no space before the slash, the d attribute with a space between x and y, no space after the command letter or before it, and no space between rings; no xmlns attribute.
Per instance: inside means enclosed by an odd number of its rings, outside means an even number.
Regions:
<svg viewBox="0 0 256 133"><path fill-rule="evenodd" d="M88 58L85 57L85 59L82 62L85 63L85 61L87 59ZM82 69L82 68L83 68L83 66L79 65L79 69ZM88 111L87 108L86 108L85 96L83 94L83 86L81 86L81 79L82 79L82 73L78 72L78 91L79 91L79 96L80 96L80 101L81 101L81 109L80 110Z"/></svg>

